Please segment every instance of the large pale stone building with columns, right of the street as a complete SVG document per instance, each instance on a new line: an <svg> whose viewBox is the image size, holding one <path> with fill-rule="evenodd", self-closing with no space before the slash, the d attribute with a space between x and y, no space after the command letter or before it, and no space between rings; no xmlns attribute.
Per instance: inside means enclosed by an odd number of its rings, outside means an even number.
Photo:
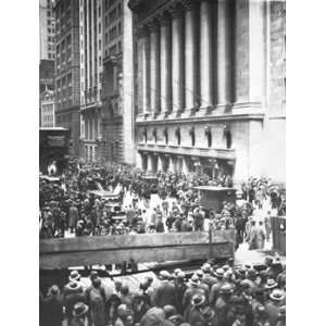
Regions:
<svg viewBox="0 0 326 326"><path fill-rule="evenodd" d="M285 181L285 2L128 5L137 166Z"/></svg>

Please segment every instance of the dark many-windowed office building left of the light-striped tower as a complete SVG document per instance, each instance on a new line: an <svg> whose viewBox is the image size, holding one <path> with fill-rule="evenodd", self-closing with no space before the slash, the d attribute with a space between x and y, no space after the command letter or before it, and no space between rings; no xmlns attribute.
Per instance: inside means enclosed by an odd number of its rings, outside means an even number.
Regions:
<svg viewBox="0 0 326 326"><path fill-rule="evenodd" d="M71 154L79 154L79 1L57 0L55 125L71 130Z"/></svg>

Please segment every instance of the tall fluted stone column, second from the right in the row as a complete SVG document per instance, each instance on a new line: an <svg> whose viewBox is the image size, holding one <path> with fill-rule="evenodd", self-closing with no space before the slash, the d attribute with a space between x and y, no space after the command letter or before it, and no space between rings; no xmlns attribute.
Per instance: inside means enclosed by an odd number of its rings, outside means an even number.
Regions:
<svg viewBox="0 0 326 326"><path fill-rule="evenodd" d="M200 2L200 101L201 108L212 105L212 27L210 0Z"/></svg>

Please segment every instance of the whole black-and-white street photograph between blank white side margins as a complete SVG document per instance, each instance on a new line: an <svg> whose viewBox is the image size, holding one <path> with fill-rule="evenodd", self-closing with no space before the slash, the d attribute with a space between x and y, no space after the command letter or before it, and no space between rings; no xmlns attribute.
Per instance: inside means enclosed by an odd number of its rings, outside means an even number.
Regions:
<svg viewBox="0 0 326 326"><path fill-rule="evenodd" d="M286 1L38 1L39 325L286 325Z"/></svg>

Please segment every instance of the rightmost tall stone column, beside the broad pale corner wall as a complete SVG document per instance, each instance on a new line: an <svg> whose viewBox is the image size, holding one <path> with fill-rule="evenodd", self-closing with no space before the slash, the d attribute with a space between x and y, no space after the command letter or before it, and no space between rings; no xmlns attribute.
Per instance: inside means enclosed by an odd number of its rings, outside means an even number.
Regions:
<svg viewBox="0 0 326 326"><path fill-rule="evenodd" d="M226 105L231 102L231 64L230 41L231 24L228 0L217 2L217 104Z"/></svg>

